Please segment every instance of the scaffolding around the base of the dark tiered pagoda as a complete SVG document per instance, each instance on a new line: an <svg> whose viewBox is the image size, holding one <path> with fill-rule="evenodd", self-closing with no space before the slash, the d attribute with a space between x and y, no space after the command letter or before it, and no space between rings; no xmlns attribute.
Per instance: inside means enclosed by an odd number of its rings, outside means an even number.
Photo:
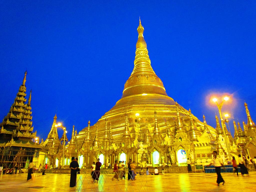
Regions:
<svg viewBox="0 0 256 192"><path fill-rule="evenodd" d="M36 148L8 146L1 147L0 165L7 168L25 167L33 159Z"/></svg>

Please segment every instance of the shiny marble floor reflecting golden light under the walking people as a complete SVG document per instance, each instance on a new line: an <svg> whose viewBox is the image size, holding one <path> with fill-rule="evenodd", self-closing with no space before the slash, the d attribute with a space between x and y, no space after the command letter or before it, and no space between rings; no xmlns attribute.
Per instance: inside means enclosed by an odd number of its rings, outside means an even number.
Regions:
<svg viewBox="0 0 256 192"><path fill-rule="evenodd" d="M93 183L89 175L80 174L77 188L69 187L69 174L33 174L33 180L27 181L27 174L3 175L0 191L37 192L37 191L221 191L256 192L256 172L249 176L237 177L233 173L222 173L225 185L216 185L216 174L180 173L165 175L137 176L135 181L114 180L112 175L101 174L99 184Z"/></svg>

